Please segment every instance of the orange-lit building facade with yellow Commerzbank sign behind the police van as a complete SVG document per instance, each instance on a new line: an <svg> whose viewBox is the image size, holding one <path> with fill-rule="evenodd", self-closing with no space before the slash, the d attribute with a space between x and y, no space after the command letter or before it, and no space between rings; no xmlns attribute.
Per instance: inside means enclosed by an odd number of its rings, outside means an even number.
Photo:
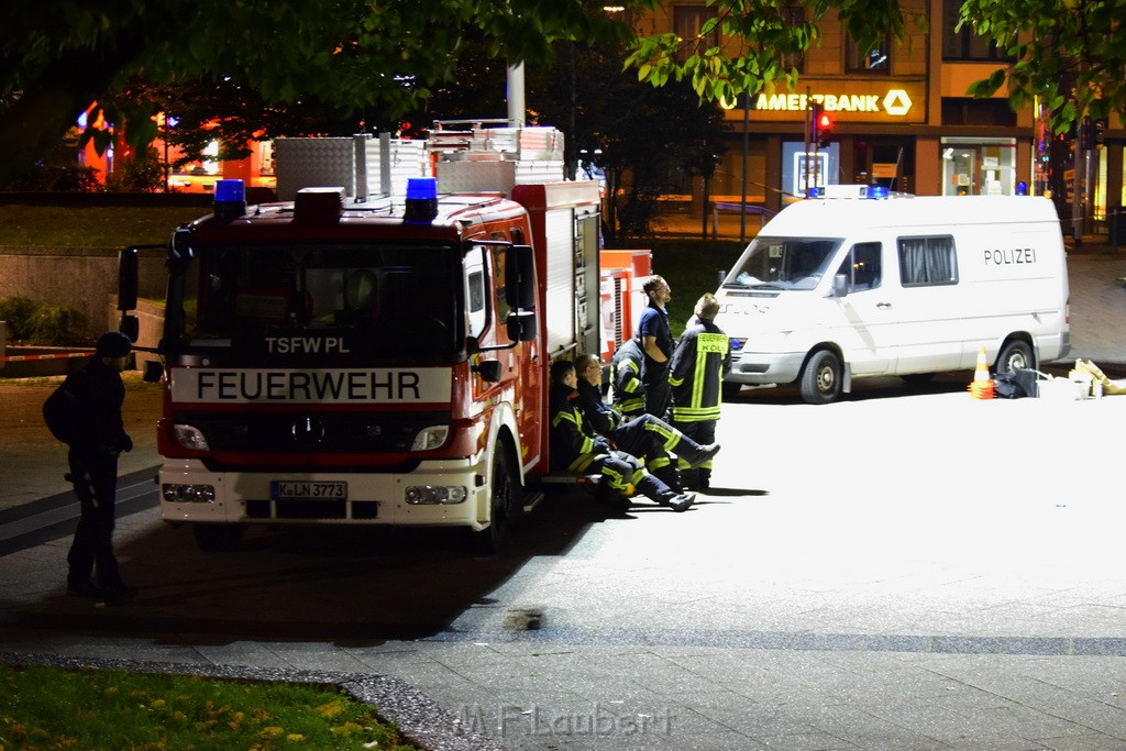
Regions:
<svg viewBox="0 0 1126 751"><path fill-rule="evenodd" d="M903 0L908 34L861 51L834 17L820 44L796 61L796 90L763 90L725 113L725 151L705 194L778 211L824 184L879 184L917 195L1048 195L1079 232L1105 232L1123 204L1120 120L1100 124L1099 143L1053 137L1047 114L1013 111L1002 89L992 99L966 90L1006 65L1003 51L969 29L956 30L960 0ZM713 15L705 0L674 0L634 18L638 34L698 34ZM792 9L795 16L803 10ZM928 29L912 20L926 14ZM717 39L729 54L738 44ZM727 104L727 102L725 102ZM831 122L811 142L811 105ZM1084 147L1090 145L1091 147ZM745 171L745 187L744 187ZM1079 190L1075 190L1076 185Z"/></svg>

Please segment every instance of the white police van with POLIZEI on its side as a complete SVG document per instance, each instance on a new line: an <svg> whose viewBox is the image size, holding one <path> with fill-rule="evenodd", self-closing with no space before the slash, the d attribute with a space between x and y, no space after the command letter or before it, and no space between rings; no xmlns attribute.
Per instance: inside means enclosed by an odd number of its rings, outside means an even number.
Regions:
<svg viewBox="0 0 1126 751"><path fill-rule="evenodd" d="M811 404L855 378L923 379L1067 356L1067 267L1052 203L1028 196L810 198L770 220L726 275L731 396L797 384Z"/></svg>

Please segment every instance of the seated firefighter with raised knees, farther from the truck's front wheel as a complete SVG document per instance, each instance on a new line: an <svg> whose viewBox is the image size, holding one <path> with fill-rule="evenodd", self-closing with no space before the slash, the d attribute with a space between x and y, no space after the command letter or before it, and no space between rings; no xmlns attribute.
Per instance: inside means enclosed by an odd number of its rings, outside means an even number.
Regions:
<svg viewBox="0 0 1126 751"><path fill-rule="evenodd" d="M623 417L602 401L602 364L593 355L575 360L578 375L578 406L595 432L609 438L611 445L645 461L645 468L673 490L680 490L677 464L669 457L672 452L680 464L695 468L720 453L718 444L701 446L695 440L652 414Z"/></svg>

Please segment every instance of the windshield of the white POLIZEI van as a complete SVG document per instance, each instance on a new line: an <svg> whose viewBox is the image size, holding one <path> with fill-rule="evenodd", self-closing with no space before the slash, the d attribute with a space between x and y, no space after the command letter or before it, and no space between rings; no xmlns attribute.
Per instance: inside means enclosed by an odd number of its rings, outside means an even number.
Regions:
<svg viewBox="0 0 1126 751"><path fill-rule="evenodd" d="M723 286L813 289L840 244L840 238L756 238Z"/></svg>

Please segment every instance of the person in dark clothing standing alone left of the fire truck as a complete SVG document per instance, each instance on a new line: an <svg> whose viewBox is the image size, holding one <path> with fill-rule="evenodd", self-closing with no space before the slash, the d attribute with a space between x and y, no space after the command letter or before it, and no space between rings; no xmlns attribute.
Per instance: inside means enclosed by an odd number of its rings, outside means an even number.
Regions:
<svg viewBox="0 0 1126 751"><path fill-rule="evenodd" d="M81 504L74 540L66 555L70 564L66 591L106 601L127 600L136 594L122 581L113 546L117 457L133 448L122 421L125 386L120 376L128 365L131 349L124 333L104 334L90 360L63 384L74 397L79 424L68 444L66 479Z"/></svg>

